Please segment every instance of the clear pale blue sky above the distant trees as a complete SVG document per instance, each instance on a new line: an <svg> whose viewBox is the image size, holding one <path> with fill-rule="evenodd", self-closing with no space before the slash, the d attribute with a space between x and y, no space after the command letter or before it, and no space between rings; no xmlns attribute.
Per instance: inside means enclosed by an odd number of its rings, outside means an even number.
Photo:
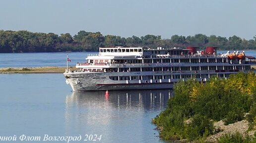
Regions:
<svg viewBox="0 0 256 143"><path fill-rule="evenodd" d="M0 29L249 40L256 35L256 0L0 0Z"/></svg>

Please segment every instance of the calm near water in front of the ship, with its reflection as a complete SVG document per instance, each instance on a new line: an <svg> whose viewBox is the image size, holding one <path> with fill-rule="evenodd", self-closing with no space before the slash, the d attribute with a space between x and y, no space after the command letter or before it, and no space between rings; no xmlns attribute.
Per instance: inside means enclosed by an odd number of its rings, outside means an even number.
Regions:
<svg viewBox="0 0 256 143"><path fill-rule="evenodd" d="M150 122L171 91L110 91L107 98L71 92L62 74L0 74L0 80L1 136L96 134L97 143L164 143Z"/></svg>

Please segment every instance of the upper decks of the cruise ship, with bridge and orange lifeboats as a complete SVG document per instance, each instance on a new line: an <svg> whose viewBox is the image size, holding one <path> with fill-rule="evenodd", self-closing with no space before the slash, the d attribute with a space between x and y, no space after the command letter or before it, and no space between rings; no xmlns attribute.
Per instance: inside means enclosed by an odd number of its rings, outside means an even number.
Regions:
<svg viewBox="0 0 256 143"><path fill-rule="evenodd" d="M207 48L206 48L207 49ZM237 51L238 53L238 51ZM232 57L229 57L231 55ZM144 64L144 63L187 63L202 64L202 63L229 63L229 64L254 64L255 57L245 56L243 53L243 60L238 59L239 55L234 53L216 54L216 48L198 52L195 48L146 48L146 47L111 47L100 48L99 54L87 56L86 63L77 63L77 68L84 67L105 67L109 64L111 66L120 64ZM246 58L247 57L247 58ZM233 59L236 58L236 59ZM154 65L154 64L153 64ZM142 65L140 65L142 66ZM196 66L196 65L192 65ZM197 65L198 66L198 65Z"/></svg>

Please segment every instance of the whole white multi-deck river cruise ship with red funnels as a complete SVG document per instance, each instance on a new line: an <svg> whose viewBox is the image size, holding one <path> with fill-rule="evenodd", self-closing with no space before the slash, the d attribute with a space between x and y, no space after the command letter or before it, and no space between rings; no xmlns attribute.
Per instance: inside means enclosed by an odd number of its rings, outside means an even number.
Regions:
<svg viewBox="0 0 256 143"><path fill-rule="evenodd" d="M78 70L67 69L64 77L73 91L171 89L179 80L228 78L254 70L252 65L253 56L243 51L217 54L216 47L111 47L88 55L86 62L76 64Z"/></svg>

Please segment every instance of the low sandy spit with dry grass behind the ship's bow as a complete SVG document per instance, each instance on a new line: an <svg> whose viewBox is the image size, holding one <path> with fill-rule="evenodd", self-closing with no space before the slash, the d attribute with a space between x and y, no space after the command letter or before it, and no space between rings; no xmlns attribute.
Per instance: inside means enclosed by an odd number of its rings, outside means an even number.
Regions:
<svg viewBox="0 0 256 143"><path fill-rule="evenodd" d="M46 67L6 67L0 68L0 73L64 73L66 67L46 66ZM68 69L77 70L75 67Z"/></svg>

